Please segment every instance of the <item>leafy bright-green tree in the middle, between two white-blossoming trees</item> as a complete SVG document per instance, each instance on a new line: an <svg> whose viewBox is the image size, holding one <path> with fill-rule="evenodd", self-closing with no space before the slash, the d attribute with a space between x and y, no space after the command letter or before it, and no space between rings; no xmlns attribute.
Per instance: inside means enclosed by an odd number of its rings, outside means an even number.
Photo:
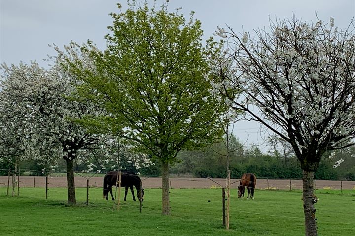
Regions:
<svg viewBox="0 0 355 236"><path fill-rule="evenodd" d="M224 106L209 93L203 76L208 67L201 23L193 15L186 23L166 6L149 9L147 2L111 15L107 49L100 53L90 43L82 47L96 70L75 61L78 54L71 47L66 60L71 72L81 75L81 95L108 112L87 121L161 162L162 213L168 215L169 164L180 150L205 146L221 135L218 117Z"/></svg>

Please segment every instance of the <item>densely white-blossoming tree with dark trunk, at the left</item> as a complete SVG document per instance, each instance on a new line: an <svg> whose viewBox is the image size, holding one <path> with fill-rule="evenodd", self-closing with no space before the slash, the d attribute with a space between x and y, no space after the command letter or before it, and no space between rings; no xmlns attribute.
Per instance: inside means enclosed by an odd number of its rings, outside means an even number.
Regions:
<svg viewBox="0 0 355 236"><path fill-rule="evenodd" d="M9 141L20 140L20 146L13 149L39 164L55 163L62 157L66 161L68 203L75 204L74 160L80 150L97 148L104 137L89 133L72 119L97 110L87 101L67 99L75 90L75 80L56 65L45 70L36 62L11 67L3 64L2 69L1 107L7 114L1 113L1 119L12 124L12 134L2 135ZM11 150L11 146L6 148Z"/></svg>

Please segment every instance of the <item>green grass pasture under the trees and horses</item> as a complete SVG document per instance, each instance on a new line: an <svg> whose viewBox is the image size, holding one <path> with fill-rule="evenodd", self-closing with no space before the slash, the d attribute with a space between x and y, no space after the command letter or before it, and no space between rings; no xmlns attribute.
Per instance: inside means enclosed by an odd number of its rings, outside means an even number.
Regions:
<svg viewBox="0 0 355 236"><path fill-rule="evenodd" d="M317 190L319 235L351 236L355 230L355 190ZM161 215L161 189L145 189L139 202L102 199L101 188L77 188L78 206L66 206L66 189L20 188L20 197L6 197L0 187L1 236L302 236L304 218L300 191L257 190L255 200L238 199L231 192L230 230L222 227L220 189L171 189L171 215ZM123 199L123 196L121 196ZM210 202L208 201L210 200Z"/></svg>

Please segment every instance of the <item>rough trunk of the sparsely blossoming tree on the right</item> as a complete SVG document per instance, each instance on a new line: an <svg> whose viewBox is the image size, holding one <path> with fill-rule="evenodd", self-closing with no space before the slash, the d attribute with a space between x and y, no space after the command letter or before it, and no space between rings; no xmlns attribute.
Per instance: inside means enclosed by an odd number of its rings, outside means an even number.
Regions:
<svg viewBox="0 0 355 236"><path fill-rule="evenodd" d="M305 216L306 236L317 236L316 209L314 207L313 171L303 171L303 211Z"/></svg>

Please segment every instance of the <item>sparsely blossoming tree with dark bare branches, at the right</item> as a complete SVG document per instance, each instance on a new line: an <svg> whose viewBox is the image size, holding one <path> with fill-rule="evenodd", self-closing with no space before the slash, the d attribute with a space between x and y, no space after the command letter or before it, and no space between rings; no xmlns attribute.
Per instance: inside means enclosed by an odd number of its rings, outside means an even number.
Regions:
<svg viewBox="0 0 355 236"><path fill-rule="evenodd" d="M330 24L279 20L250 40L248 33L218 32L232 50L229 57L217 57L213 91L292 146L303 170L307 236L317 235L313 177L322 155L354 145L353 23L340 30L333 19ZM238 99L235 90L242 91Z"/></svg>

